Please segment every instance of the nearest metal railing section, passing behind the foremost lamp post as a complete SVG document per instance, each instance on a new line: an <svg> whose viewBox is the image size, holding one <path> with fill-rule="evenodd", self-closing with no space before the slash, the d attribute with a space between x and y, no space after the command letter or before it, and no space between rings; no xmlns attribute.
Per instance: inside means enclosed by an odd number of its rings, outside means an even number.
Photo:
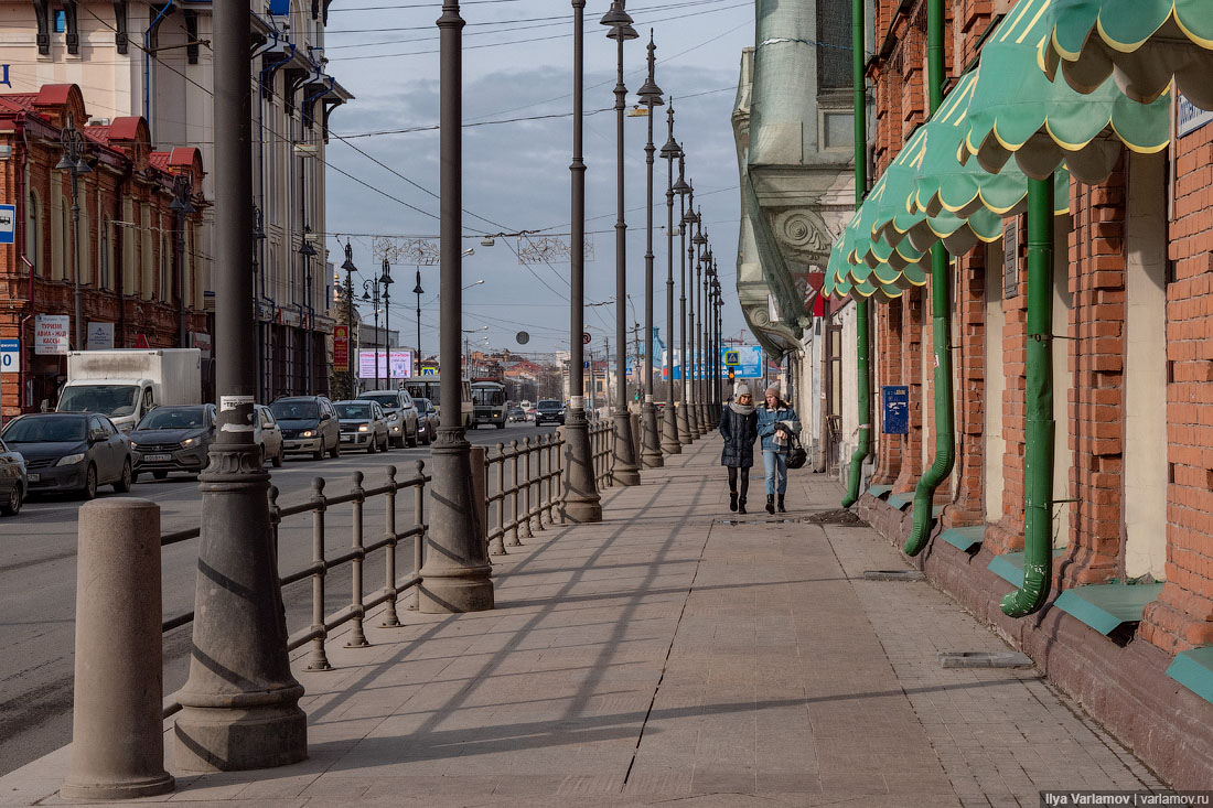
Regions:
<svg viewBox="0 0 1213 808"><path fill-rule="evenodd" d="M324 478L317 477L312 480L311 499L306 502L286 507L278 505L278 489L275 486L269 488L269 519L275 552L279 546L278 536L283 520L302 513L312 514L312 563L303 569L279 579L283 587L312 579L312 622L307 628L291 635L287 638L286 645L287 650L295 650L309 642L312 643L307 670L328 671L332 668L324 647L329 633L338 626L353 622L347 645L351 648L363 648L369 644L363 631L363 620L369 609L386 604L382 625L385 627L399 626L397 603L399 594L410 587L414 590L414 605L410 608L416 608L417 599L420 598L420 587L417 585L421 582L421 568L425 563L425 536L429 529L429 525L425 520L425 503L426 484L432 480L432 477L426 474L425 466L425 462L418 460L415 473L405 479L398 478L395 466L388 466L386 470L387 480L382 485L370 488L363 485L365 480L363 473L354 472L352 476L353 486L347 493L336 496L325 495L324 489L326 483ZM405 489L414 490L414 519L411 525L399 530L397 525L397 495ZM369 499L378 496L385 497L383 533L377 541L366 544L363 519L364 507ZM328 556L326 514L329 508L346 503L349 503L352 516L349 550L330 558ZM189 530L164 534L160 537L160 546L167 547L197 539L199 533L199 528L190 528ZM414 540L412 570L406 577L399 580L397 573L397 545L402 540L410 537ZM370 553L380 550L383 551L383 587L368 597L363 593L363 573L366 558ZM344 564L351 565L352 594L349 603L332 614L325 614L325 576L330 570ZM184 626L192 622L193 619L193 611L175 615L161 624L161 631L167 632ZM165 701L165 717L171 716L178 710L181 710L181 705L170 696Z"/></svg>

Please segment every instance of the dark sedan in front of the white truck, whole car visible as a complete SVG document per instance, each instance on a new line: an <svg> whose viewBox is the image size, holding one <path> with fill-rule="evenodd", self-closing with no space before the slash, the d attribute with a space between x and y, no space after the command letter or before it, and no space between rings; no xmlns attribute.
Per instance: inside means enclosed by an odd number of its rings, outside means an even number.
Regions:
<svg viewBox="0 0 1213 808"><path fill-rule="evenodd" d="M131 490L131 442L104 415L35 412L21 415L0 433L25 460L29 494L72 491L85 500L98 485Z"/></svg>

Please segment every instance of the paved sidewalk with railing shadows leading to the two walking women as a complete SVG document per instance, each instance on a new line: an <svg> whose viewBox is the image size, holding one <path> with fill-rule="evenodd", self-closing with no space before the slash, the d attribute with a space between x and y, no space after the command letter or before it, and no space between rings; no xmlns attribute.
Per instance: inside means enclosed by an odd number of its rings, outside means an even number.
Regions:
<svg viewBox="0 0 1213 808"><path fill-rule="evenodd" d="M901 808L1161 787L1033 670L943 668L940 650L1008 648L926 582L864 580L907 568L866 527L802 520L837 508L836 483L793 472L770 518L759 467L758 513L736 517L718 461L702 439L610 489L602 524L512 548L494 611L402 610L404 628L368 620L369 649L331 643L334 671L296 672L304 763L178 776L133 804ZM68 753L0 779L0 804L58 803Z"/></svg>

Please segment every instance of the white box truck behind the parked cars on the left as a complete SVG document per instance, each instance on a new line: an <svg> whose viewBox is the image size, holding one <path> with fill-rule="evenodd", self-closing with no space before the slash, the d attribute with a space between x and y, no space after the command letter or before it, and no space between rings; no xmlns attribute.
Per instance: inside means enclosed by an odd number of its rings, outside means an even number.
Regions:
<svg viewBox="0 0 1213 808"><path fill-rule="evenodd" d="M203 403L198 348L72 351L57 412L101 412L130 432L153 406Z"/></svg>

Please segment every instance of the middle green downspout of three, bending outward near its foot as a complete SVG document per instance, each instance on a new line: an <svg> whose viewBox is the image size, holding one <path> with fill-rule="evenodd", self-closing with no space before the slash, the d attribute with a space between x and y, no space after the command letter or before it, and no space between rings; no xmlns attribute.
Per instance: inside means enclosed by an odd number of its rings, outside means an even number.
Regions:
<svg viewBox="0 0 1213 808"><path fill-rule="evenodd" d="M944 102L944 0L927 5L927 84L930 113ZM935 355L935 460L913 493L913 527L901 551L917 556L927 546L935 489L956 463L956 400L952 391L952 295L950 262L943 241L930 249L930 330Z"/></svg>

